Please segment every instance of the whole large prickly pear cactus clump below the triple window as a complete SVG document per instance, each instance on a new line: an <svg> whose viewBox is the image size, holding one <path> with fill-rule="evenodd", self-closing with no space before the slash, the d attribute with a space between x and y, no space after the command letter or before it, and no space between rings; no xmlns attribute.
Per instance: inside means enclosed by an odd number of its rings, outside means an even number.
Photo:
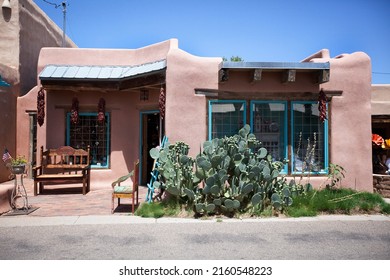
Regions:
<svg viewBox="0 0 390 280"><path fill-rule="evenodd" d="M266 204L283 211L303 191L286 183L280 174L286 162L273 161L249 125L234 136L205 141L202 148L195 159L183 142L150 151L160 163L156 186L199 215L234 215Z"/></svg>

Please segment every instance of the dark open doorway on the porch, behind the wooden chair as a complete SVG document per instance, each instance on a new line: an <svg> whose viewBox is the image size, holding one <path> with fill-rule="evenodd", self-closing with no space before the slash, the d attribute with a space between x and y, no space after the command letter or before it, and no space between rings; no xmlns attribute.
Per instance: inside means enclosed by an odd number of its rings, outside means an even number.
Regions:
<svg viewBox="0 0 390 280"><path fill-rule="evenodd" d="M159 111L141 112L140 120L140 184L146 186L146 184L150 181L154 164L154 160L150 157L149 151L150 149L160 145L162 133L160 129L160 113Z"/></svg>

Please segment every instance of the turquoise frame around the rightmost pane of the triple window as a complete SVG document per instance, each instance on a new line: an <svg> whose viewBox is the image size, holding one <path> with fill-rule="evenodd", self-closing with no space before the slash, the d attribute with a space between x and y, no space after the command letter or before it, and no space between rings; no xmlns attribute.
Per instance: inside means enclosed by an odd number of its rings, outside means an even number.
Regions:
<svg viewBox="0 0 390 280"><path fill-rule="evenodd" d="M296 175L296 174L328 174L328 170L329 170L329 151L328 151L328 144L329 144L329 135L328 135L328 120L325 120L324 121L324 126L323 126L323 134L324 134L324 144L323 144L323 149L324 149L324 154L323 154L323 158L324 158L324 168L323 170L321 171L311 171L311 172L307 172L307 171L294 171L294 105L295 104L311 104L311 105L316 105L318 104L316 101L292 101L291 102L291 109L290 109L290 114L291 114L291 123L290 123L290 127L291 127L291 174L293 175ZM328 107L327 107L327 110L328 110Z"/></svg>

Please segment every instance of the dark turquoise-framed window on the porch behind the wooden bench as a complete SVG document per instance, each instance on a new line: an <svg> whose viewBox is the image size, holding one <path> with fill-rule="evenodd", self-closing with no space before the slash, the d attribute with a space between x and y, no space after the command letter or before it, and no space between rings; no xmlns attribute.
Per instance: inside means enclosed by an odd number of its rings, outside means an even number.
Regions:
<svg viewBox="0 0 390 280"><path fill-rule="evenodd" d="M66 144L75 149L87 149L90 146L91 167L108 168L109 166L109 128L110 115L105 114L105 121L98 122L97 113L79 113L79 122L70 121L66 116Z"/></svg>

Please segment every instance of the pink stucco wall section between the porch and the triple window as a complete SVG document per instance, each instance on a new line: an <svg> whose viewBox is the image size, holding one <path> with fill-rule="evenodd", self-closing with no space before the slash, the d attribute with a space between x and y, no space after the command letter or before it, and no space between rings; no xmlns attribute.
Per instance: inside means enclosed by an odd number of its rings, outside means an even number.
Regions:
<svg viewBox="0 0 390 280"><path fill-rule="evenodd" d="M166 134L169 141L189 144L195 156L207 138L207 105L204 96L196 96L195 88L218 88L218 66L221 58L201 58L183 50L168 54Z"/></svg>

